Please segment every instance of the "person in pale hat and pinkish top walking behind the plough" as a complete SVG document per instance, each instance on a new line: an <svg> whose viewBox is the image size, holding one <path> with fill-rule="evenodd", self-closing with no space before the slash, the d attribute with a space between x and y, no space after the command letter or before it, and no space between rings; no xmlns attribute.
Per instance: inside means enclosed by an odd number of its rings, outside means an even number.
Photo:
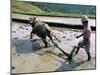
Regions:
<svg viewBox="0 0 100 75"><path fill-rule="evenodd" d="M75 54L78 54L80 48L84 48L87 53L88 61L89 61L91 60L91 55L90 55L91 28L88 25L88 21L89 18L86 15L83 15L81 19L82 25L84 26L83 33L81 35L76 36L76 38L80 38L81 36L83 36L83 40L78 43Z"/></svg>

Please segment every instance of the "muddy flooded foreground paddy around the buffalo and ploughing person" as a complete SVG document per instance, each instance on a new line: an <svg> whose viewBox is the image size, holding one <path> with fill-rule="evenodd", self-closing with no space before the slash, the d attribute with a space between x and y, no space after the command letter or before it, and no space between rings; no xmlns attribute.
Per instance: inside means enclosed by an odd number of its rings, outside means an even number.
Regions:
<svg viewBox="0 0 100 75"><path fill-rule="evenodd" d="M50 43L48 48L44 48L43 41L34 36L29 39L31 27L28 24L12 23L12 73L30 72L54 72L79 69L95 69L95 32L91 36L91 55L92 60L87 62L87 55L84 49L80 49L79 54L69 63L66 56L59 49ZM81 34L81 30L71 30L66 28L52 28L54 35L61 40L59 43L54 37L55 42L67 53L70 53L74 45L82 40L75 39ZM47 38L47 40L49 40ZM62 54L62 56L59 56Z"/></svg>

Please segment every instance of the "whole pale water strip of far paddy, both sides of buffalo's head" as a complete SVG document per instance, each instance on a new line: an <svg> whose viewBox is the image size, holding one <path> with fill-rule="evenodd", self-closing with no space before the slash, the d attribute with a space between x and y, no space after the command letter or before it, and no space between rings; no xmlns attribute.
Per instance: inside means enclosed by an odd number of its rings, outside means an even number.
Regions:
<svg viewBox="0 0 100 75"><path fill-rule="evenodd" d="M28 19L31 16L29 16L29 15L22 15L22 14L13 14L12 17L13 18ZM41 20L41 21L45 21L45 22L82 25L81 18L37 16L37 19ZM96 19L89 19L89 25L95 27L96 26Z"/></svg>

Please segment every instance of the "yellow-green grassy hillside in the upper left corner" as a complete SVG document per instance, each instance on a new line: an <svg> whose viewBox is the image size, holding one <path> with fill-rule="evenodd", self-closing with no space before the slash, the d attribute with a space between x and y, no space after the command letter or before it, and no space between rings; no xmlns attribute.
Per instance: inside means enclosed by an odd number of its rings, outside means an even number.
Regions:
<svg viewBox="0 0 100 75"><path fill-rule="evenodd" d="M13 13L23 13L23 14L32 14L32 13L43 13L41 9L36 6L33 6L31 3L19 2L16 0L12 1L12 12Z"/></svg>

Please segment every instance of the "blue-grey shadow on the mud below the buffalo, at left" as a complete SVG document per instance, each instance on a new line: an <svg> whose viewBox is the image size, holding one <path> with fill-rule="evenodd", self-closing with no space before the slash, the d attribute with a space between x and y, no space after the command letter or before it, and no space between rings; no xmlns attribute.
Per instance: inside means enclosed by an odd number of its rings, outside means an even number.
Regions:
<svg viewBox="0 0 100 75"><path fill-rule="evenodd" d="M32 53L43 48L38 42L39 40L30 39L12 39L12 44L15 44L16 53Z"/></svg>

